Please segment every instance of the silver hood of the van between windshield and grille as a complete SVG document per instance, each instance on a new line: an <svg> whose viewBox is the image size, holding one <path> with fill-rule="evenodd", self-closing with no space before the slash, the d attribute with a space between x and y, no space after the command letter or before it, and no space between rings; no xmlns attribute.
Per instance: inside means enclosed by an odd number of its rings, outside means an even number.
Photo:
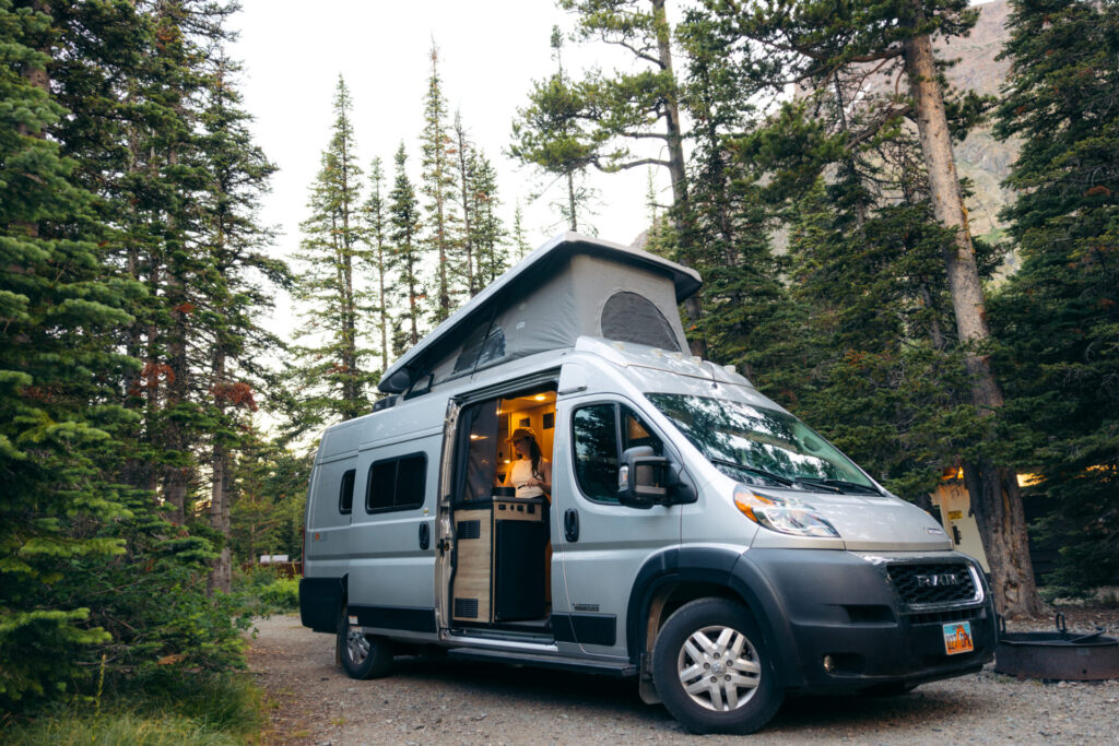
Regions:
<svg viewBox="0 0 1119 746"><path fill-rule="evenodd" d="M847 549L941 550L952 542L932 516L904 500L871 494L797 495L839 531Z"/></svg>

